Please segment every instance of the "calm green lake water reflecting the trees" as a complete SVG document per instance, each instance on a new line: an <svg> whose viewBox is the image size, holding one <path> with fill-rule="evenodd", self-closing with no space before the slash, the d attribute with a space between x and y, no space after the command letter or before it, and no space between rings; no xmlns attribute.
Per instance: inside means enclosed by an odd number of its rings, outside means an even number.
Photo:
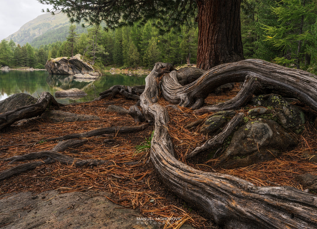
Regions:
<svg viewBox="0 0 317 229"><path fill-rule="evenodd" d="M99 97L99 93L113 85L136 86L145 84L146 75L125 75L110 72L99 80L73 79L68 75L49 75L47 71L0 70L0 101L15 93L38 97L43 91L55 97L55 91L79 88L88 95L79 99L58 98L60 103L85 102Z"/></svg>

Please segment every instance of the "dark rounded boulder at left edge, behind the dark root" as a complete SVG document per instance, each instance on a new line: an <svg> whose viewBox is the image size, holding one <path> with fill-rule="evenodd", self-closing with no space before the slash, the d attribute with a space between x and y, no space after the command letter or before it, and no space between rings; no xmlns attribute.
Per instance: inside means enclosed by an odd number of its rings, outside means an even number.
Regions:
<svg viewBox="0 0 317 229"><path fill-rule="evenodd" d="M0 101L0 113L8 112L29 104L36 103L37 99L26 93L17 93Z"/></svg>

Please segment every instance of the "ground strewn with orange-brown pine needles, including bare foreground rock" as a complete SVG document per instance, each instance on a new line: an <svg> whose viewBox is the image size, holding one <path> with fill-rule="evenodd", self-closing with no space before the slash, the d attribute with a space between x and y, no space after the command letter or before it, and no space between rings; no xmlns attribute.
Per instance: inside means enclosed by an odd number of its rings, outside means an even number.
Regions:
<svg viewBox="0 0 317 229"><path fill-rule="evenodd" d="M227 101L238 89L222 95L211 94L205 105ZM137 126L129 115L107 112L109 105L129 109L136 101L123 97L69 104L60 110L97 115L100 121L52 123L41 117L12 125L0 136L0 172L26 162L8 164L5 158L30 152L51 150L58 142L45 141L71 133L96 128ZM217 171L208 152L186 160L186 153L201 145L208 136L189 131L185 125L210 115L195 116L191 109L175 109L163 99L159 103L170 114L169 133L178 160L203 171L227 173L257 186L294 186L304 190L294 176L317 175L317 164L305 153L317 149L317 131L307 122L305 131L297 135L296 148L282 156L245 168ZM307 111L309 108L302 107ZM237 112L247 112L241 109ZM80 147L62 154L78 159L100 159L107 163L98 167L75 167L59 162L0 181L0 227L3 228L217 228L203 211L176 197L160 180L149 160L149 151L136 152L136 146L149 139L153 126L135 133L102 134L89 137ZM109 200L109 201L108 201ZM112 201L112 202L110 202ZM113 204L113 205L112 205ZM139 217L147 217L141 224ZM157 219L154 223L152 219ZM168 220L170 219L170 220Z"/></svg>

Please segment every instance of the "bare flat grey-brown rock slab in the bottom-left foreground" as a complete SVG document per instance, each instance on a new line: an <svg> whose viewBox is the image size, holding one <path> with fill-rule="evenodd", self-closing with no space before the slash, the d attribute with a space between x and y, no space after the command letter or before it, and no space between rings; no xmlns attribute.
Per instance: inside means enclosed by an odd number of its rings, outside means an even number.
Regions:
<svg viewBox="0 0 317 229"><path fill-rule="evenodd" d="M156 229L163 223L143 221L136 209L114 204L104 191L59 194L56 190L39 194L7 193L0 196L1 229ZM139 219L138 219L139 218ZM155 223L154 223L155 222ZM182 229L191 226L183 225Z"/></svg>

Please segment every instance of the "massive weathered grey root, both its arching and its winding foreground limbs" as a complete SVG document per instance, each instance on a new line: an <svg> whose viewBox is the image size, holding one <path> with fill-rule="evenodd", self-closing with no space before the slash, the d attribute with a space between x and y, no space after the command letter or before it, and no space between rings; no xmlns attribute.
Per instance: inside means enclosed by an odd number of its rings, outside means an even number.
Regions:
<svg viewBox="0 0 317 229"><path fill-rule="evenodd" d="M166 128L169 116L157 103L156 78L169 69L172 69L170 64L156 63L146 77L146 89L140 96L144 114L147 119L152 117L155 123L151 160L165 184L181 198L203 208L223 228L316 228L317 197L313 194L288 186L257 187L231 175L196 170L174 158ZM256 77L264 86L271 83L290 90L317 110L317 81L311 74L260 60L217 66L186 86L178 86L174 77L170 77L168 81L176 86L166 90L165 82L162 90L165 90L164 96L170 96L181 105L198 107L208 94L207 90L229 81L243 81L246 75ZM168 74L164 78L167 77Z"/></svg>

